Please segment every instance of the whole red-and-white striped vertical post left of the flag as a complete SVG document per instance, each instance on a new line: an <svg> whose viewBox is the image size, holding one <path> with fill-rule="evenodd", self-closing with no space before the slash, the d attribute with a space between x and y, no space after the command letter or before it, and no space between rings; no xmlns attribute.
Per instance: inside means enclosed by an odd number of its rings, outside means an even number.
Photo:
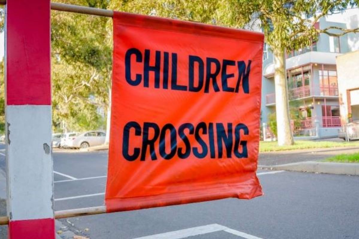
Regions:
<svg viewBox="0 0 359 239"><path fill-rule="evenodd" d="M9 238L55 239L50 0L8 0L5 39Z"/></svg>

